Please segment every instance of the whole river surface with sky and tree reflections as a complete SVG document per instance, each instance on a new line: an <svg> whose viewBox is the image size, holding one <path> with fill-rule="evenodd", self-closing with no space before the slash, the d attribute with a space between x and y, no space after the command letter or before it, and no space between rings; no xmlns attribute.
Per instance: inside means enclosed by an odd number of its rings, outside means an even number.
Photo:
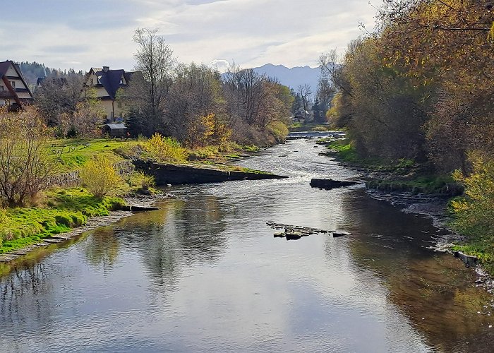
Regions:
<svg viewBox="0 0 494 353"><path fill-rule="evenodd" d="M240 162L289 179L174 186L161 210L0 278L0 352L492 352L491 297L430 220L370 198L306 140ZM266 222L347 237L274 238Z"/></svg>

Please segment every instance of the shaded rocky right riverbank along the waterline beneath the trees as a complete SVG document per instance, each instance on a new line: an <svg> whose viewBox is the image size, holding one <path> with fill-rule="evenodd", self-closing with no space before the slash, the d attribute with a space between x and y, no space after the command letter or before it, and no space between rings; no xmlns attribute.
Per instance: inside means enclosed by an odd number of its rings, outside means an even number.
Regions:
<svg viewBox="0 0 494 353"><path fill-rule="evenodd" d="M452 213L452 200L463 200L464 186L451 176L435 175L428 167L413 161L399 160L384 164L363 160L348 141L325 140L327 155L360 174L370 196L392 205L399 205L405 213L430 217L435 227L447 233L435 239L436 251L452 253L466 266L476 268L475 283L494 293L494 249L488 237L459 232L457 217Z"/></svg>

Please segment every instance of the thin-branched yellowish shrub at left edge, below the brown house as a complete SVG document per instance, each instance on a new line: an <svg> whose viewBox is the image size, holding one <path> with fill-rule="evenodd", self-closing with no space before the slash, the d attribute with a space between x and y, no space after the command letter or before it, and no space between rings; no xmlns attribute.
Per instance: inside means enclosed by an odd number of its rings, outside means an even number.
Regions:
<svg viewBox="0 0 494 353"><path fill-rule="evenodd" d="M49 155L49 131L33 107L18 113L0 109L0 201L24 205L47 187L56 172L56 159Z"/></svg>

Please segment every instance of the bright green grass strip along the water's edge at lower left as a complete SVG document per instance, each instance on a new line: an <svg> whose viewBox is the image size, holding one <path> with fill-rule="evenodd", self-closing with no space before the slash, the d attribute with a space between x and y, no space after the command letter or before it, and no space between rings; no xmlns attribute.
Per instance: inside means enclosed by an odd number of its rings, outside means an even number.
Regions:
<svg viewBox="0 0 494 353"><path fill-rule="evenodd" d="M36 243L54 234L84 225L88 217L109 215L124 201L116 197L95 198L85 189L57 189L47 192L44 208L2 210L0 253Z"/></svg>

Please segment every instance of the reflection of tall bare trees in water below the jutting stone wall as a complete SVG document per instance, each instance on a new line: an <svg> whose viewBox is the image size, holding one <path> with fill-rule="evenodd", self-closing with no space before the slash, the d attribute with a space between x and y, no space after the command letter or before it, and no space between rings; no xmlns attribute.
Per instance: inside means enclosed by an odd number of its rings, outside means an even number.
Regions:
<svg viewBox="0 0 494 353"><path fill-rule="evenodd" d="M226 239L221 205L214 196L169 200L161 209L129 217L123 226L160 287L174 287L183 263L215 261Z"/></svg>

